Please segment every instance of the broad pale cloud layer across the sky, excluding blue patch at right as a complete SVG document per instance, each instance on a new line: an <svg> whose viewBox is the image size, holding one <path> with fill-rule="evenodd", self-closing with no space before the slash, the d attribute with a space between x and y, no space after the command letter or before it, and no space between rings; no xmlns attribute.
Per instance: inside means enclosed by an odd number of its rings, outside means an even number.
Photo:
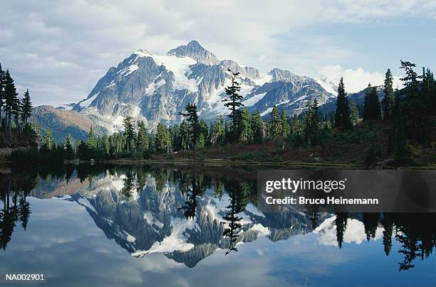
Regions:
<svg viewBox="0 0 436 287"><path fill-rule="evenodd" d="M351 48L334 38L305 38L306 28L389 21L406 14L432 18L436 5L427 2L2 1L0 55L19 85L57 85L74 91L76 99L137 48L165 53L193 39L219 58L303 73L338 63L341 56L353 57ZM284 41L281 36L290 31L295 38ZM291 48L284 49L284 43ZM65 102L50 91L33 95L36 102Z"/></svg>

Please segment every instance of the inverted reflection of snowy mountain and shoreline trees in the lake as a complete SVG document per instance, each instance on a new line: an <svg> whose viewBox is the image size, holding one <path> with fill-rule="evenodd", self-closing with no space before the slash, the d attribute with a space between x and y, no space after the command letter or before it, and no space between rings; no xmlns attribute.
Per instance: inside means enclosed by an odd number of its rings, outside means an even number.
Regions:
<svg viewBox="0 0 436 287"><path fill-rule="evenodd" d="M0 188L0 244L6 253L14 230L32 224L29 197L75 202L132 256L160 253L190 268L219 249L234 254L240 244L260 237L278 242L313 233L320 244L339 249L381 239L385 256L399 244L402 272L430 260L436 247L435 214L263 213L256 208L255 170L11 167L1 170Z"/></svg>

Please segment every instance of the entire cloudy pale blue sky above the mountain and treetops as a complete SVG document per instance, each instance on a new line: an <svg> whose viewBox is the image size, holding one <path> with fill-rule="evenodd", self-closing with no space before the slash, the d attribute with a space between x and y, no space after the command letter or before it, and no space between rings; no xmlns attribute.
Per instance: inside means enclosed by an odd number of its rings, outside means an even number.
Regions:
<svg viewBox="0 0 436 287"><path fill-rule="evenodd" d="M436 1L0 0L0 62L34 104L85 98L138 48L165 54L189 40L219 59L268 72L343 76L378 85L400 59L436 69Z"/></svg>

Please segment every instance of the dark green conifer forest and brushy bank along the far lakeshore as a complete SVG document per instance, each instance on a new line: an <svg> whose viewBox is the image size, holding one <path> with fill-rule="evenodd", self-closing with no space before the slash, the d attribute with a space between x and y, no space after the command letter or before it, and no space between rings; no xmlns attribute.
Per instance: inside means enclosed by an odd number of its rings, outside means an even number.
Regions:
<svg viewBox="0 0 436 287"><path fill-rule="evenodd" d="M428 68L401 61L403 88L393 87L393 74L385 73L384 97L368 85L360 107L348 99L346 83L338 84L336 110L320 112L318 102L307 102L299 116L276 106L267 117L250 114L239 94L239 73L228 71L225 117L207 123L195 103L180 113L181 124L157 124L150 131L143 121L125 115L123 131L98 136L90 128L88 139L66 136L56 143L51 129L28 123L31 99L20 99L9 71L0 68L2 146L25 147L9 161L217 161L235 163L307 163L375 168L422 166L436 168L436 81Z"/></svg>

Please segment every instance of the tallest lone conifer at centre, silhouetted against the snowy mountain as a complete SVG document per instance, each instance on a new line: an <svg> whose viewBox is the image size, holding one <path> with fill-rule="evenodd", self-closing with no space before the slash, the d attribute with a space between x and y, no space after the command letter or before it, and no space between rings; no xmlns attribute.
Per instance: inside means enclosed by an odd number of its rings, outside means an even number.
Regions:
<svg viewBox="0 0 436 287"><path fill-rule="evenodd" d="M232 126L230 129L230 134L232 141L236 141L239 136L238 133L240 131L239 129L239 107L244 107L244 104L242 104L243 97L239 94L239 91L241 90L241 86L239 85L239 82L237 82L237 77L239 76L239 72L232 72L232 70L228 69L229 75L230 75L230 81L231 84L226 87L224 90L227 94L227 96L224 99L222 99L222 102L226 102L224 104L224 107L227 107L230 109L231 113L229 114L229 118L232 120Z"/></svg>

